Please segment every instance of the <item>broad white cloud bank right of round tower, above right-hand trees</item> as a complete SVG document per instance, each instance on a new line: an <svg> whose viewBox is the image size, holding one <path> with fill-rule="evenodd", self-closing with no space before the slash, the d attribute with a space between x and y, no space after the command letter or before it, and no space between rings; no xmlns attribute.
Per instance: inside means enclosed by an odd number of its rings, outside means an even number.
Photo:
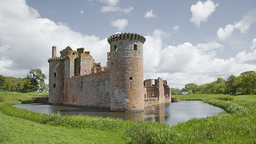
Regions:
<svg viewBox="0 0 256 144"><path fill-rule="evenodd" d="M256 69L256 50L220 59L216 57L216 51L221 51L224 46L216 41L196 46L189 42L166 46L163 38L155 33L145 36L144 79L161 77L170 87L182 88L187 83L210 83L218 77L226 79L231 74L238 76L241 72Z"/></svg>

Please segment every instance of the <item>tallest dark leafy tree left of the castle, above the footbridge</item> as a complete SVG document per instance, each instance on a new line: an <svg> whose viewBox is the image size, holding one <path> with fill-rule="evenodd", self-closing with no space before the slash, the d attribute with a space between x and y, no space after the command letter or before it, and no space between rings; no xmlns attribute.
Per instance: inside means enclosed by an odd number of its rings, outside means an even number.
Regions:
<svg viewBox="0 0 256 144"><path fill-rule="evenodd" d="M24 79L24 91L33 92L39 89L39 82L45 82L46 76L41 69L30 69Z"/></svg>

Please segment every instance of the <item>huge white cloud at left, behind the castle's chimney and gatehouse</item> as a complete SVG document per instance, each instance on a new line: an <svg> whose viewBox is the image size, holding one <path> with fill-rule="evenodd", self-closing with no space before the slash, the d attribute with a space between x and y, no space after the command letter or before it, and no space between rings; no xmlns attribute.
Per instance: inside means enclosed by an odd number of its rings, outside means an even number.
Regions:
<svg viewBox="0 0 256 144"><path fill-rule="evenodd" d="M40 18L25 0L0 1L0 41L0 73L13 77L25 77L29 69L35 68L48 76L47 60L53 45L57 46L57 52L67 46L73 50L84 47L103 66L109 51L107 38L82 35L62 23Z"/></svg>

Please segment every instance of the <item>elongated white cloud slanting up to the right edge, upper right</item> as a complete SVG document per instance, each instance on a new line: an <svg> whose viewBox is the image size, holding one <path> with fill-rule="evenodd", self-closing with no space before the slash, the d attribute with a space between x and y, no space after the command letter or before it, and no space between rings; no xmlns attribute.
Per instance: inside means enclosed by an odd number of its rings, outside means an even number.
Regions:
<svg viewBox="0 0 256 144"><path fill-rule="evenodd" d="M247 12L243 19L239 22L235 22L234 24L226 25L223 29L222 27L219 28L217 31L217 36L221 40L225 40L226 38L230 37L232 32L235 30L240 30L240 33L246 33L247 30L251 27L251 24L256 22L256 9L252 9Z"/></svg>

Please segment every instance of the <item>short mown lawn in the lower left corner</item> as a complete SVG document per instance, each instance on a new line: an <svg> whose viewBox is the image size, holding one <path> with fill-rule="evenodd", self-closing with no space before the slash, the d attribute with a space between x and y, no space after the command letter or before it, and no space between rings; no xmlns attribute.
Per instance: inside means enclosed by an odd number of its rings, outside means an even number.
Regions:
<svg viewBox="0 0 256 144"><path fill-rule="evenodd" d="M125 143L117 132L54 127L0 114L0 143L10 144L114 144Z"/></svg>

